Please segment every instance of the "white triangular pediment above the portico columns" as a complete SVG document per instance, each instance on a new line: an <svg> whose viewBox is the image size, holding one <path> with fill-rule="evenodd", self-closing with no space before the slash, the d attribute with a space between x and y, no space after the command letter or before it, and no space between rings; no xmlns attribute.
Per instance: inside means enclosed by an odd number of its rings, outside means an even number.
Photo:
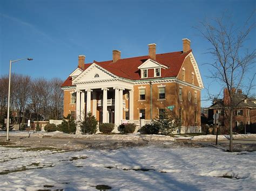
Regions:
<svg viewBox="0 0 256 191"><path fill-rule="evenodd" d="M96 63L84 70L77 78L73 81L73 84L83 83L88 81L101 81L116 78L115 75L98 66Z"/></svg>

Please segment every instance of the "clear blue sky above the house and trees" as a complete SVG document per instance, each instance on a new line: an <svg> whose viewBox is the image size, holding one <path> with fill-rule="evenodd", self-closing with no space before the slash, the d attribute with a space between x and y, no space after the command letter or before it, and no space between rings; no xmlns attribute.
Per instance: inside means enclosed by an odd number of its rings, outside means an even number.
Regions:
<svg viewBox="0 0 256 191"><path fill-rule="evenodd" d="M0 1L0 75L8 74L9 60L31 57L33 61L14 63L12 72L65 80L77 67L80 54L88 63L112 60L113 49L121 51L122 58L147 55L150 43L157 44L157 53L181 51L181 39L188 38L207 86L209 68L203 63L212 61L204 54L210 44L193 26L223 12L239 25L255 9L256 1L246 0ZM250 38L246 46L255 49L255 30ZM213 83L212 91L219 90ZM201 99L206 96L202 90ZM201 103L204 107L210 104Z"/></svg>

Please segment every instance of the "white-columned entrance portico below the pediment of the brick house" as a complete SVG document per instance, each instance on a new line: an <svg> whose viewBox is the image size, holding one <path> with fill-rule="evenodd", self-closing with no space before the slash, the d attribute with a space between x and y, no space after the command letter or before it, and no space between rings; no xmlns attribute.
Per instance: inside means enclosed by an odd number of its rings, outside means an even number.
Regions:
<svg viewBox="0 0 256 191"><path fill-rule="evenodd" d="M123 98L124 92L128 95L128 100ZM118 126L124 118L124 109L129 110L129 119L133 119L132 106L133 90L120 86L90 89L80 87L76 90L76 121L83 121L85 115L91 112L100 123L114 123Z"/></svg>

